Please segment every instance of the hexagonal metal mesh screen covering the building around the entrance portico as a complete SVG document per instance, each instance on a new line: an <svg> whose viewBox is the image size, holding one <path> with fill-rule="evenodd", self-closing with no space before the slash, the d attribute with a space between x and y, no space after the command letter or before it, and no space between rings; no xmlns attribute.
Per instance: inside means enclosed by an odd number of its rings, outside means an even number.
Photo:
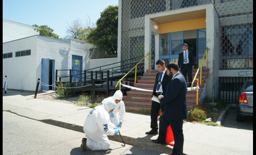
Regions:
<svg viewBox="0 0 256 155"><path fill-rule="evenodd" d="M220 70L253 68L252 0L122 0L122 61L144 55L145 15L209 3L219 16Z"/></svg>

